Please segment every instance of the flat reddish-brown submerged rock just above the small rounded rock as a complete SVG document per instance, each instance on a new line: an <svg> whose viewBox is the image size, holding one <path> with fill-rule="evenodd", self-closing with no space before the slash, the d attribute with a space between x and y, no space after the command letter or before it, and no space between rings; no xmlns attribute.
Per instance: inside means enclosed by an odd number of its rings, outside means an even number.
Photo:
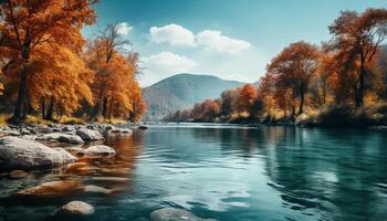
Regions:
<svg viewBox="0 0 387 221"><path fill-rule="evenodd" d="M84 186L81 181L51 181L19 191L20 197L64 197L82 191Z"/></svg>

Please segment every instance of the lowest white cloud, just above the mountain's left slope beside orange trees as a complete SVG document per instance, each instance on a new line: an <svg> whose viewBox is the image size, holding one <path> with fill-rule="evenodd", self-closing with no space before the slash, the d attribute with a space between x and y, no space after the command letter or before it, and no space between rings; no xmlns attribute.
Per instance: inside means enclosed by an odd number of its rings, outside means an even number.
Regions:
<svg viewBox="0 0 387 221"><path fill-rule="evenodd" d="M143 57L144 76L140 78L143 86L148 86L174 74L191 71L197 63L182 55L171 52L160 52L158 54Z"/></svg>

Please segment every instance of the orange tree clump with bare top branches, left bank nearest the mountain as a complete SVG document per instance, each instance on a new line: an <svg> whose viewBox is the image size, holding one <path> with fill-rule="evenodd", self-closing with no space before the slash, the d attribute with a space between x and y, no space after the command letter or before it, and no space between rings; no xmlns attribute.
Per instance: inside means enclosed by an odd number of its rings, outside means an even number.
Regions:
<svg viewBox="0 0 387 221"><path fill-rule="evenodd" d="M91 116L139 120L145 104L136 80L138 54L125 50L128 42L122 40L118 32L119 25L107 25L85 53L88 67L94 72L95 105Z"/></svg>

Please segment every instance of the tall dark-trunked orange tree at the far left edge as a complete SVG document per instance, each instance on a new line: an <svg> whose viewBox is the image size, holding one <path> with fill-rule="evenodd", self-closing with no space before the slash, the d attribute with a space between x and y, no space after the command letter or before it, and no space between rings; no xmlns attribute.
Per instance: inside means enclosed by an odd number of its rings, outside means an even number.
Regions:
<svg viewBox="0 0 387 221"><path fill-rule="evenodd" d="M0 2L1 50L19 64L19 92L12 120L28 107L31 57L42 45L82 44L81 29L95 21L90 0L7 0Z"/></svg>

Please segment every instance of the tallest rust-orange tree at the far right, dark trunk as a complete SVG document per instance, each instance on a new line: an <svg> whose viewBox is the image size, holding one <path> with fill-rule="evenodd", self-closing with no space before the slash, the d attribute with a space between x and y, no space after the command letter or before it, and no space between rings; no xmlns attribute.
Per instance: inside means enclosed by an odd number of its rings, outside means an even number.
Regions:
<svg viewBox="0 0 387 221"><path fill-rule="evenodd" d="M363 106L372 62L387 38L387 10L367 9L363 13L343 11L330 25L330 31L334 35L333 49L346 56L347 64L344 65L352 67L358 63L355 104Z"/></svg>

